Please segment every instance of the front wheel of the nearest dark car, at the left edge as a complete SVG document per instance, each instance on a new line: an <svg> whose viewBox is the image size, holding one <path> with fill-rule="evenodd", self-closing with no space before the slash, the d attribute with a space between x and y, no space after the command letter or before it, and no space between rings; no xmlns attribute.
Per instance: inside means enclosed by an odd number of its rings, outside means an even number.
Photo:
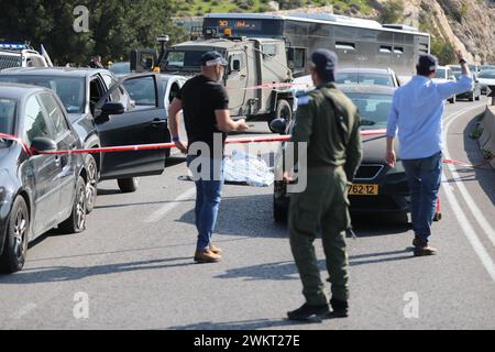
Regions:
<svg viewBox="0 0 495 352"><path fill-rule="evenodd" d="M15 198L7 223L6 243L0 255L0 271L15 273L22 270L28 252L30 216L24 198Z"/></svg>

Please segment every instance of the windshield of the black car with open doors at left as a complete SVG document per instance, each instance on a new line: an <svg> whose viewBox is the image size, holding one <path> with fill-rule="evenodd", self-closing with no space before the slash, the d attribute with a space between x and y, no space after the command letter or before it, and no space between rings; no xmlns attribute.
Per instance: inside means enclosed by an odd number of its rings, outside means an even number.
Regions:
<svg viewBox="0 0 495 352"><path fill-rule="evenodd" d="M50 88L61 98L68 113L85 111L85 79L57 76L0 75L0 81L33 85Z"/></svg>

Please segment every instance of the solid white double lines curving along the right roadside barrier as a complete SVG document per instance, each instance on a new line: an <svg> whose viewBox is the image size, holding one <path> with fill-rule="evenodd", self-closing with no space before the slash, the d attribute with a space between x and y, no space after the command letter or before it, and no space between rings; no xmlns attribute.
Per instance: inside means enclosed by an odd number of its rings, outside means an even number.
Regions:
<svg viewBox="0 0 495 352"><path fill-rule="evenodd" d="M443 128L443 141L444 141L444 150L443 153L446 155L447 158L450 157L449 152L448 152L448 143L447 143L447 134L450 128L450 124L460 116L462 116L464 112L475 109L475 108L480 108L480 106L475 106L475 107L471 107L468 109L463 109L457 113L451 114L448 118L448 122ZM455 185L458 186L458 188L461 190L461 195L464 197L464 200L468 202L468 205L473 205L475 207L475 209L473 207L470 207L471 212L473 212L476 221L479 221L480 226L483 228L483 230L486 231L493 231L492 227L490 226L490 223L486 221L486 219L481 215L480 209L475 206L474 201L472 200L471 196L468 194L464 185L459 182L459 175L455 172L454 167L452 165L448 166L450 172L452 173L453 179ZM442 182L443 184L447 183L447 177L443 174L442 175ZM470 244L473 246L474 252L476 253L476 255L480 257L482 264L485 266L486 271L488 272L490 276L492 277L492 279L495 282L495 264L492 260L492 257L490 256L488 252L486 251L486 249L484 248L483 243L480 241L479 237L476 235L476 231L474 230L474 228L471 226L471 223L469 222L468 217L465 216L464 211L462 210L461 206L459 205L458 199L455 198L452 187L443 187L443 190L446 193L447 196L447 200L449 201L449 205L452 209L452 211L455 213L455 219L458 220L460 227L462 228L465 237L468 238L468 241L470 242ZM476 213L477 212L477 213ZM479 217L477 217L479 216ZM484 224L487 224L487 228L484 227Z"/></svg>

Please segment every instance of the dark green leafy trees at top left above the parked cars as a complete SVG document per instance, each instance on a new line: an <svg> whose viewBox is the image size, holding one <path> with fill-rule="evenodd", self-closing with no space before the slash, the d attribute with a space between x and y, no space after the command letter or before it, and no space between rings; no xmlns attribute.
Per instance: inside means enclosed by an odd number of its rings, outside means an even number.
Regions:
<svg viewBox="0 0 495 352"><path fill-rule="evenodd" d="M54 64L86 65L95 54L103 59L127 58L136 47L156 47L157 35L172 42L184 33L170 20L183 0L16 0L3 1L2 40L43 44ZM89 10L89 32L76 33L77 6Z"/></svg>

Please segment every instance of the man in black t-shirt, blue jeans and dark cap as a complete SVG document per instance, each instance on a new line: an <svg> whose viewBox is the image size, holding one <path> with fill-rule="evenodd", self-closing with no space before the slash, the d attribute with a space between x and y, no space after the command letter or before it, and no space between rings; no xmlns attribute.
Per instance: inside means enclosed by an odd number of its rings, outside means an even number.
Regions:
<svg viewBox="0 0 495 352"><path fill-rule="evenodd" d="M196 228L198 242L195 262L221 260L221 250L211 243L223 186L223 147L227 133L245 131L244 119L233 121L229 97L218 82L228 65L218 52L201 56L201 74L189 79L168 108L168 130L177 148L187 153L187 165L196 184ZM179 114L184 111L187 140L178 133Z"/></svg>

